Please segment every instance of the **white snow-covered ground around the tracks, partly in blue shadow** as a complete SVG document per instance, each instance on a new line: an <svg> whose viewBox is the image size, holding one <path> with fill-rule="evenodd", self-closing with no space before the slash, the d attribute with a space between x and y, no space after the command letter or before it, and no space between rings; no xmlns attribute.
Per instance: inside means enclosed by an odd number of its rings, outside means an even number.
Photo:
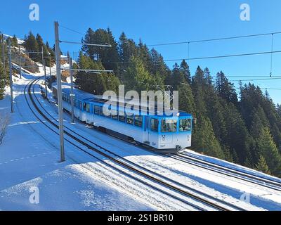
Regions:
<svg viewBox="0 0 281 225"><path fill-rule="evenodd" d="M37 121L27 108L23 95L25 85L38 76L40 75L24 75L22 80L16 79L14 84L15 113L11 115L8 133L0 146L1 210L195 210L112 169L66 141L66 162L59 163L58 136ZM55 104L41 98L39 86L36 91L44 109L57 118ZM0 101L1 112L9 112L9 107L9 96L6 96ZM70 124L70 116L67 114L65 126L153 173L218 199L248 210L281 210L279 191L210 172L169 156L156 155L85 127L85 124L78 121ZM230 167L228 162L191 150L188 152L198 158ZM98 154L96 157L100 158ZM112 164L105 158L102 160ZM231 167L254 172L234 164ZM138 177L137 174L132 175ZM30 203L32 186L39 188L39 204ZM249 203L240 200L243 196L249 197L246 198Z"/></svg>

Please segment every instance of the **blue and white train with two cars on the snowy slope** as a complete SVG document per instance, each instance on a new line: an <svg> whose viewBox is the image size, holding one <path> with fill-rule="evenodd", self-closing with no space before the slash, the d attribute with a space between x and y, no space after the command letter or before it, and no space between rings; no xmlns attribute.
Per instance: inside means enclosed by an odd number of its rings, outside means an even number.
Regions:
<svg viewBox="0 0 281 225"><path fill-rule="evenodd" d="M71 112L70 86L63 85L63 108ZM177 153L191 146L192 115L179 112L176 116L142 115L104 115L105 101L99 96L73 89L74 117L86 124L92 124L107 134L136 141L150 146L161 153ZM57 89L53 86L53 97L57 99ZM120 114L120 115L119 115Z"/></svg>

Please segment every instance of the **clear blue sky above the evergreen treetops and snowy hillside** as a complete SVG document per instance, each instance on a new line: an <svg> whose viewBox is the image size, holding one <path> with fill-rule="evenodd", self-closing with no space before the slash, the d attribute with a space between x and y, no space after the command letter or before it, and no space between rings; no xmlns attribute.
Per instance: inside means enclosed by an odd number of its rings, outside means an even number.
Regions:
<svg viewBox="0 0 281 225"><path fill-rule="evenodd" d="M40 7L40 20L30 21L30 4ZM250 21L240 20L240 5L249 4ZM81 33L91 27L110 27L115 37L124 31L127 37L142 39L146 44L162 44L174 41L212 39L247 34L280 32L281 1L237 0L175 0L175 1L16 1L1 3L0 31L23 37L32 30L53 45L53 21ZM60 29L60 39L80 41L82 35ZM65 51L79 51L79 46L62 44ZM187 58L187 44L155 46L164 59ZM190 58L220 56L235 53L251 53L271 50L271 36L251 37L190 44ZM273 50L281 50L281 34L273 36ZM273 76L281 76L281 53L273 54ZM171 66L175 62L169 62ZM243 56L190 60L190 70L197 65L208 67L211 75L223 70L226 75L266 76L270 74L270 55ZM230 77L230 80L243 79ZM249 78L244 78L249 79ZM281 88L281 79L254 82L262 88ZM235 82L237 85L237 82ZM275 103L281 103L281 91L268 90Z"/></svg>

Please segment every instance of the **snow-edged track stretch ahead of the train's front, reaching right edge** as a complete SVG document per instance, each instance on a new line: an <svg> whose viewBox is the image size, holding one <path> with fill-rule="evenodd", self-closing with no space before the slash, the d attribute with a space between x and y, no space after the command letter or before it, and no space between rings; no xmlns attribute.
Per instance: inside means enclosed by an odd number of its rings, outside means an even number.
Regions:
<svg viewBox="0 0 281 225"><path fill-rule="evenodd" d="M178 153L178 155L171 155L171 158L174 158L181 162L186 162L189 165L195 165L197 167L208 169L212 172L218 172L219 174L224 174L226 176L235 177L237 179L241 179L243 181L250 182L252 184L258 184L260 186L273 189L275 191L281 191L280 182L266 179L261 176L256 176L254 174L241 172L241 171L238 171L237 169L230 169L228 167L216 165L215 163L212 163L212 162L200 160L200 159L197 159L197 158L194 158L194 157L188 155L188 153L185 153L185 152Z"/></svg>

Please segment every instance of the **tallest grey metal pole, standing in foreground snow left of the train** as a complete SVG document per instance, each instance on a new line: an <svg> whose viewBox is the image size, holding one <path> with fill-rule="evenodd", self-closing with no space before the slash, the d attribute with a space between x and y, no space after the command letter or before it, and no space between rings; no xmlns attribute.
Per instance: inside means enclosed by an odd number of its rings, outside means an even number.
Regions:
<svg viewBox="0 0 281 225"><path fill-rule="evenodd" d="M57 69L57 86L58 86L58 119L60 130L60 162L65 161L65 146L63 141L63 99L60 75L60 40L58 37L58 22L55 25L55 62Z"/></svg>

